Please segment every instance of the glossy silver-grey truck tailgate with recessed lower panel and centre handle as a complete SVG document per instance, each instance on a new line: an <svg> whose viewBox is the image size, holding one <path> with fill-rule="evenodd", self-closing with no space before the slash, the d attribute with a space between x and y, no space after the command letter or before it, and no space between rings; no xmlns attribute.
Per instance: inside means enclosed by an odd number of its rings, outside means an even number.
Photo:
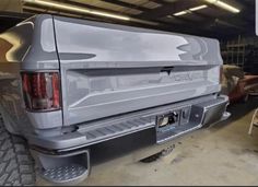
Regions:
<svg viewBox="0 0 258 187"><path fill-rule="evenodd" d="M214 39L58 16L55 28L64 125L220 92Z"/></svg>

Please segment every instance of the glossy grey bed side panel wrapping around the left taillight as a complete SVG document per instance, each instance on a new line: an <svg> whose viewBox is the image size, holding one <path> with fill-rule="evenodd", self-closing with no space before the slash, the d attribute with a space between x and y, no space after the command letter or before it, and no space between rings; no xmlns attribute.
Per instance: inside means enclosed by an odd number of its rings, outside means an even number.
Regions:
<svg viewBox="0 0 258 187"><path fill-rule="evenodd" d="M62 127L61 110L25 109L20 74L59 70L52 16L36 15L0 34L0 105L15 132Z"/></svg>

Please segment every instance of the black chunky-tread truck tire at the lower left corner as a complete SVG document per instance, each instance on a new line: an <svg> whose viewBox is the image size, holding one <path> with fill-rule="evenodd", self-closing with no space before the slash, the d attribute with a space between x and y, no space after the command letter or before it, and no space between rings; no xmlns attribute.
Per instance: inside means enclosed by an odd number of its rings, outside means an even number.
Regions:
<svg viewBox="0 0 258 187"><path fill-rule="evenodd" d="M9 133L0 116L0 185L34 186L34 165L26 141Z"/></svg>

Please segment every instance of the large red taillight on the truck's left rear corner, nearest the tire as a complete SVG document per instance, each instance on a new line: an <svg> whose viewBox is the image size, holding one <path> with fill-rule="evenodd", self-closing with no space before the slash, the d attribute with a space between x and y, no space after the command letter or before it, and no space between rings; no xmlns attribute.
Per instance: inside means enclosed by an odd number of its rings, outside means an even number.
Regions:
<svg viewBox="0 0 258 187"><path fill-rule="evenodd" d="M60 81L58 72L22 72L25 106L30 110L60 108Z"/></svg>

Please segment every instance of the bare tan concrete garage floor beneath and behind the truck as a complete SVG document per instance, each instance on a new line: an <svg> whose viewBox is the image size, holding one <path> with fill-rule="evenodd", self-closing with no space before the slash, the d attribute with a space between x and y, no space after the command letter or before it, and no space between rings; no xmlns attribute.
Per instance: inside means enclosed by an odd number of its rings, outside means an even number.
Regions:
<svg viewBox="0 0 258 187"><path fill-rule="evenodd" d="M232 106L231 119L167 142L175 149L152 163L137 161L160 147L134 147L139 137L96 147L92 174L80 185L258 185L258 128L247 135L257 106L258 98Z"/></svg>

